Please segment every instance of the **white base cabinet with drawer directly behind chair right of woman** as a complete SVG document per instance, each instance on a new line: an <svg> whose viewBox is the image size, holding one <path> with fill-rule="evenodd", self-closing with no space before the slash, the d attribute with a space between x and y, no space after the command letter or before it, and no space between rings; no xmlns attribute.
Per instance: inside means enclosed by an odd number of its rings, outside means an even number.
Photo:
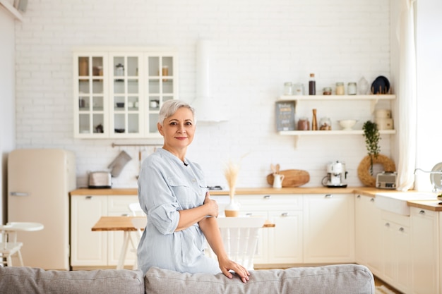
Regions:
<svg viewBox="0 0 442 294"><path fill-rule="evenodd" d="M301 195L237 195L235 200L241 215L265 216L275 223L275 228L261 230L256 265L302 262Z"/></svg>

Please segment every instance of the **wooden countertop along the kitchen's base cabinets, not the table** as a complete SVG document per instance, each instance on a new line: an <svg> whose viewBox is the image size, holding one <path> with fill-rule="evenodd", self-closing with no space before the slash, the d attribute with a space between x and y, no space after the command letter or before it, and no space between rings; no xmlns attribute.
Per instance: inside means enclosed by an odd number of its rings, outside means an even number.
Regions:
<svg viewBox="0 0 442 294"><path fill-rule="evenodd" d="M292 195L292 194L361 194L375 197L376 193L397 193L396 190L376 189L371 187L347 187L347 188L237 188L236 195ZM416 192L416 191L409 191ZM112 189L88 189L79 188L69 193L70 195L107 196L107 195L138 195L137 188L112 188ZM229 195L228 190L210 190L210 195ZM434 212L442 212L442 203L438 200L409 200L408 206L428 209Z"/></svg>

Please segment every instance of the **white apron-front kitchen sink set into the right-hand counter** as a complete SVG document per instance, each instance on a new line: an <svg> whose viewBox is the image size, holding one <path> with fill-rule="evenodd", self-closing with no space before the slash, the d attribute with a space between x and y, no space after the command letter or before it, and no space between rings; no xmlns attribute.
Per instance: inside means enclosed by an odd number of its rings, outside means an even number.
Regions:
<svg viewBox="0 0 442 294"><path fill-rule="evenodd" d="M376 206L395 214L410 215L407 201L437 200L437 195L430 192L385 192L376 193Z"/></svg>

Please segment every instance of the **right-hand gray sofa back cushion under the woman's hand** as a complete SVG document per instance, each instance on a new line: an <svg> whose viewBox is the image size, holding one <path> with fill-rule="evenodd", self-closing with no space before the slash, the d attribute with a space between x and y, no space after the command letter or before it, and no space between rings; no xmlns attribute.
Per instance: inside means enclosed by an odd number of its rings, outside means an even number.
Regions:
<svg viewBox="0 0 442 294"><path fill-rule="evenodd" d="M229 279L221 273L181 274L153 267L145 274L145 293L372 294L374 278L367 267L357 264L251 271L247 283L238 276Z"/></svg>

